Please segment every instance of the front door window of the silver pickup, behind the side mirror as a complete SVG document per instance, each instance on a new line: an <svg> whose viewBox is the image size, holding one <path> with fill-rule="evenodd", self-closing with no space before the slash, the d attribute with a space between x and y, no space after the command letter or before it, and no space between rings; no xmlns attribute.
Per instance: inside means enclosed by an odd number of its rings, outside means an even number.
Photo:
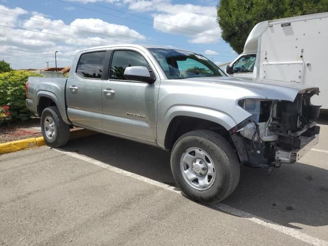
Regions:
<svg viewBox="0 0 328 246"><path fill-rule="evenodd" d="M114 51L112 58L110 78L126 80L124 77L124 70L126 67L134 66L143 66L150 70L144 56L138 52L131 50L116 50Z"/></svg>

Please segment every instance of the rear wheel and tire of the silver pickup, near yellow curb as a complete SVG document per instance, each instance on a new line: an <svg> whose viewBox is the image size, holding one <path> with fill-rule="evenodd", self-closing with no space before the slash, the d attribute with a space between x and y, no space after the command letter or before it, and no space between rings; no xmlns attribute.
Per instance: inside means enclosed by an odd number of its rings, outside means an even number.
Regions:
<svg viewBox="0 0 328 246"><path fill-rule="evenodd" d="M55 106L45 108L42 112L41 130L47 145L51 147L66 145L70 137L70 126L63 121Z"/></svg>

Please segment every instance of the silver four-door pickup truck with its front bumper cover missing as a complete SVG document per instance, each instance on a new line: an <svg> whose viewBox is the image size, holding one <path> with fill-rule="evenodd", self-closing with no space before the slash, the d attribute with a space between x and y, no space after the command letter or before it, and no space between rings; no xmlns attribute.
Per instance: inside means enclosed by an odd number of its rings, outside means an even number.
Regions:
<svg viewBox="0 0 328 246"><path fill-rule="evenodd" d="M318 142L318 88L228 77L206 57L159 46L78 52L69 77L28 79L28 108L49 146L73 126L171 152L176 184L197 201L222 200L240 164L272 169Z"/></svg>

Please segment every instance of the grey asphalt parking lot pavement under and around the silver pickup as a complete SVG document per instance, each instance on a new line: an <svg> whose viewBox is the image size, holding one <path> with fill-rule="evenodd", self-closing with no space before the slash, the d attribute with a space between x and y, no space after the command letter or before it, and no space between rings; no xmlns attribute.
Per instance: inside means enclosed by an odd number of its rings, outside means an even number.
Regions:
<svg viewBox="0 0 328 246"><path fill-rule="evenodd" d="M174 187L169 153L102 134L0 155L1 245L328 245L328 125L298 163L241 169L222 203Z"/></svg>

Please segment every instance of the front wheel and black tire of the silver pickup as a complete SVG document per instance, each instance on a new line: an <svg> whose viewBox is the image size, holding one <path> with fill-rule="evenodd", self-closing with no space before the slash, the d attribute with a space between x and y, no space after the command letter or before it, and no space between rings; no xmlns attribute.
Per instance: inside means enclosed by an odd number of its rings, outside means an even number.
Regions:
<svg viewBox="0 0 328 246"><path fill-rule="evenodd" d="M171 170L182 192L200 202L227 198L236 189L240 176L235 151L226 139L210 130L191 131L176 140Z"/></svg>

